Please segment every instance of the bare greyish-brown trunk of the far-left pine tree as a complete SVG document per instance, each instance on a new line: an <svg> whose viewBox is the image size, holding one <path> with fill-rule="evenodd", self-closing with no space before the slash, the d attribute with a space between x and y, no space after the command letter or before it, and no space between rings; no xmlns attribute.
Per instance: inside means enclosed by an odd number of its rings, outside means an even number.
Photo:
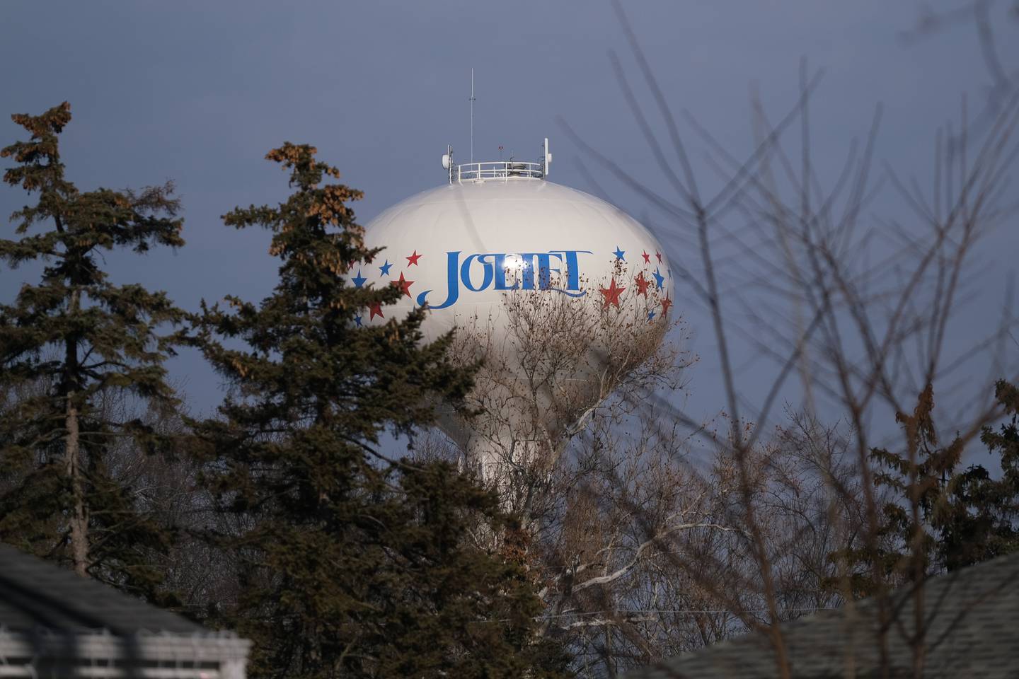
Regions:
<svg viewBox="0 0 1019 679"><path fill-rule="evenodd" d="M82 292L77 288L71 292L70 313L75 315L81 305ZM71 516L70 516L70 555L74 572L85 577L89 568L89 517L85 506L85 484L82 478L82 447L78 429L77 404L77 337L67 338L64 356L64 397L66 409L64 415L64 470L70 479Z"/></svg>

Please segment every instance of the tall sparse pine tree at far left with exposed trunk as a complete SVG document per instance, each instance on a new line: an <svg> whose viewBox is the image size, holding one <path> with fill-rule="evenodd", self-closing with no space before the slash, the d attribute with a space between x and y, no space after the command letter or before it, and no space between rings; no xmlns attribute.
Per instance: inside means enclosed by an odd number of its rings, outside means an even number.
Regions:
<svg viewBox="0 0 1019 679"><path fill-rule="evenodd" d="M42 265L37 284L0 305L0 540L151 597L160 574L147 554L169 534L138 510L106 451L129 440L155 452L161 441L104 402L175 405L162 365L175 336L159 332L184 317L164 293L116 285L100 265L104 251L179 247L182 222L172 184L83 192L67 180L58 135L70 118L66 102L14 115L31 138L0 151L15 162L3 180L39 197L12 215L18 237L0 240L0 262Z"/></svg>

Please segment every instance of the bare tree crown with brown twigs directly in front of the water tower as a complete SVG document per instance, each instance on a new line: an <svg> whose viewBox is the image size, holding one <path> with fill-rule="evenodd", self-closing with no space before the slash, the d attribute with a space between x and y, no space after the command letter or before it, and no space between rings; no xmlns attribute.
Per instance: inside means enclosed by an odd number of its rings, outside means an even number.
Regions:
<svg viewBox="0 0 1019 679"><path fill-rule="evenodd" d="M626 265L614 266L620 275ZM665 319L648 322L657 294L634 295L620 307L593 295L514 290L498 318L458 329L453 355L481 367L465 405L440 419L507 509L533 516L556 461L610 397L619 408L679 386L690 357L661 343Z"/></svg>

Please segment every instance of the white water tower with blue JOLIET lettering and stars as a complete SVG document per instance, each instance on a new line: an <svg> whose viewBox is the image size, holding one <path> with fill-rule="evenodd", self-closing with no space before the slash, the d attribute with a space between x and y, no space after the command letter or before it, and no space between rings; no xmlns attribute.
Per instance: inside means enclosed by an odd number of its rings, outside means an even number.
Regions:
<svg viewBox="0 0 1019 679"><path fill-rule="evenodd" d="M434 339L455 329L460 359L481 359L469 414L440 404L440 427L482 476L547 472L592 410L653 354L668 325L672 272L650 232L618 208L548 181L538 163L455 165L446 182L366 227L355 285L395 285L385 323L427 306Z"/></svg>

